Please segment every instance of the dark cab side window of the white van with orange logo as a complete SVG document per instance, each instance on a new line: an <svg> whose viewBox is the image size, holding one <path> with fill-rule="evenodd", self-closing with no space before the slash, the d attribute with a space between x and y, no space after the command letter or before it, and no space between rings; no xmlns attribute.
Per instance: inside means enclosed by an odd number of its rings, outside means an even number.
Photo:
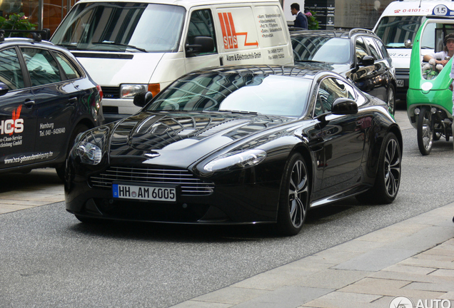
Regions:
<svg viewBox="0 0 454 308"><path fill-rule="evenodd" d="M186 43L193 44L196 36L208 36L214 41L214 50L210 53L216 53L216 36L213 25L213 16L211 16L211 11L209 9L193 11L191 14L191 20L189 21Z"/></svg>

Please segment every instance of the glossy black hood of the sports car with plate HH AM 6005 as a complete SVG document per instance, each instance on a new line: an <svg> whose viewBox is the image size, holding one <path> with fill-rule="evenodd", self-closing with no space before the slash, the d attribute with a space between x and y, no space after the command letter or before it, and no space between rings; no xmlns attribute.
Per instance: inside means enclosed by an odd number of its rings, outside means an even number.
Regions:
<svg viewBox="0 0 454 308"><path fill-rule="evenodd" d="M238 140L292 118L234 113L139 113L120 120L111 133L110 160L188 168Z"/></svg>

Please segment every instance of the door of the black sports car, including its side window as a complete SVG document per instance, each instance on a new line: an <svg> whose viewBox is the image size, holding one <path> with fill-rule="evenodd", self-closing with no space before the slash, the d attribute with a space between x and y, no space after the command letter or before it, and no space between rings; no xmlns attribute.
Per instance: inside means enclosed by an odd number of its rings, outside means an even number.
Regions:
<svg viewBox="0 0 454 308"><path fill-rule="evenodd" d="M365 125L358 114L336 116L331 108L336 98L356 100L353 86L347 82L328 77L318 88L318 101L323 112L328 113L322 124L324 143L322 195L333 195L351 188L360 180L360 167L365 145Z"/></svg>

